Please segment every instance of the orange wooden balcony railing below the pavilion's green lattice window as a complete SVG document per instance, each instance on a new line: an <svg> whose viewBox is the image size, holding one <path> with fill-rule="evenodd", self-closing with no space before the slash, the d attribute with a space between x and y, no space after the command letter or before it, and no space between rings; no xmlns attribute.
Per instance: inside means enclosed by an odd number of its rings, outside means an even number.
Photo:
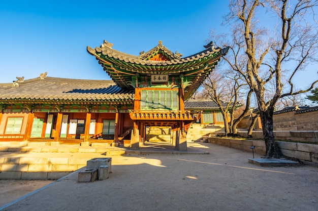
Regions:
<svg viewBox="0 0 318 211"><path fill-rule="evenodd" d="M133 120L191 120L200 119L200 111L169 110L130 110Z"/></svg>

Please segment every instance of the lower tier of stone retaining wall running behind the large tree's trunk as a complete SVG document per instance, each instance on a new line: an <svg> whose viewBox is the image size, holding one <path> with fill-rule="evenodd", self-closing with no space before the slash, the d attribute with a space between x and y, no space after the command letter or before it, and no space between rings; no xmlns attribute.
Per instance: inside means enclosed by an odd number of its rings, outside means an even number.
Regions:
<svg viewBox="0 0 318 211"><path fill-rule="evenodd" d="M266 155L265 141L227 139L217 137L210 137L208 141L213 144L236 148L247 152L252 152L250 146L255 146L255 153ZM281 141L277 141L276 143L284 156L318 163L317 144L292 143Z"/></svg>

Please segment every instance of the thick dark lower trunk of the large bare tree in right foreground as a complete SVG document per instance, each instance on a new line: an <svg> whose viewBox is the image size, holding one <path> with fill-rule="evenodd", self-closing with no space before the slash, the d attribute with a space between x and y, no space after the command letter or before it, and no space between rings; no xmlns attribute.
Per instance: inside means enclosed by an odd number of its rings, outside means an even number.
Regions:
<svg viewBox="0 0 318 211"><path fill-rule="evenodd" d="M275 137L273 133L273 115L270 111L260 111L263 136L266 145L266 158L281 158L283 154L276 145Z"/></svg>

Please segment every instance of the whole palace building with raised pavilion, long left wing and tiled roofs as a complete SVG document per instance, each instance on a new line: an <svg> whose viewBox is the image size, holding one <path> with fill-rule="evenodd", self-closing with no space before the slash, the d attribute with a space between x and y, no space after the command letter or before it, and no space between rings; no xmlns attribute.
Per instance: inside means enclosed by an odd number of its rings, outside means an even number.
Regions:
<svg viewBox="0 0 318 211"><path fill-rule="evenodd" d="M189 100L228 48L212 43L182 57L159 41L139 56L104 41L87 47L112 80L49 77L0 84L0 141L124 143L138 149L162 131L163 141L186 150L192 122L224 124L210 100ZM155 134L155 133L153 133Z"/></svg>

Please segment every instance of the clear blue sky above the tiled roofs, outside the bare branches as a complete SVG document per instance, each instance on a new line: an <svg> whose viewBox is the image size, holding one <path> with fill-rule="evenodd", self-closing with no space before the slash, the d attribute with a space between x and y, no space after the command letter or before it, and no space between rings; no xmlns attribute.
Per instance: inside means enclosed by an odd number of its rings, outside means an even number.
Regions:
<svg viewBox="0 0 318 211"><path fill-rule="evenodd" d="M209 31L226 32L228 1L1 1L0 82L47 76L110 79L86 47L106 39L113 49L139 55L157 46L188 56L202 51ZM311 67L297 75L317 78ZM307 78L307 79L306 79Z"/></svg>

